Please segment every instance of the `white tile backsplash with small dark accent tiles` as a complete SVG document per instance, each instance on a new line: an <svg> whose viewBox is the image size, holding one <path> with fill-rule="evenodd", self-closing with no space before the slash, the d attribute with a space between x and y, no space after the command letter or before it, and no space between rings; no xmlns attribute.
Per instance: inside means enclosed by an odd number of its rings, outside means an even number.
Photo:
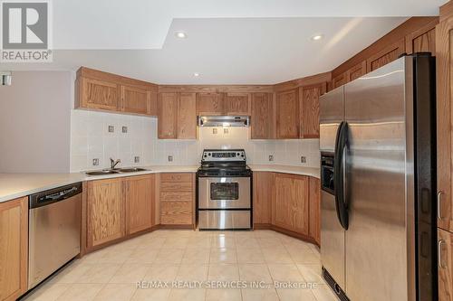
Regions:
<svg viewBox="0 0 453 301"><path fill-rule="evenodd" d="M109 126L115 127L114 133L109 133ZM122 127L128 132L122 133ZM159 140L157 127L157 118L73 109L71 171L107 168L111 157L121 159L119 166L198 165L205 148L244 148L250 165L319 166L319 139L251 140L247 127L230 127L227 133L218 127L217 134L212 127L200 127L198 140ZM268 161L269 155L274 161ZM304 164L301 155L307 159ZM140 163L134 163L135 156L140 156ZM93 166L93 158L100 165Z"/></svg>

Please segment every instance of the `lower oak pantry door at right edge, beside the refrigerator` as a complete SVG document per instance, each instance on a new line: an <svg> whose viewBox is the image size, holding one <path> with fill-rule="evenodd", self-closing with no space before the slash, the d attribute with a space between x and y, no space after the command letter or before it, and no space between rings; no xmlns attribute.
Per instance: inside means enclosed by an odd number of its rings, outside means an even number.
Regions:
<svg viewBox="0 0 453 301"><path fill-rule="evenodd" d="M438 230L439 301L453 301L453 233Z"/></svg>

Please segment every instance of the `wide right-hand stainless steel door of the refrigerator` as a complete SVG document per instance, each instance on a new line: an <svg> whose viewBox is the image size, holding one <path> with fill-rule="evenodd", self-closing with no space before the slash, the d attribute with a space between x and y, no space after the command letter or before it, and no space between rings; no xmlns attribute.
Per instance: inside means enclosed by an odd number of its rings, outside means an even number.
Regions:
<svg viewBox="0 0 453 301"><path fill-rule="evenodd" d="M410 59L401 58L344 88L351 300L415 299L411 74Z"/></svg>

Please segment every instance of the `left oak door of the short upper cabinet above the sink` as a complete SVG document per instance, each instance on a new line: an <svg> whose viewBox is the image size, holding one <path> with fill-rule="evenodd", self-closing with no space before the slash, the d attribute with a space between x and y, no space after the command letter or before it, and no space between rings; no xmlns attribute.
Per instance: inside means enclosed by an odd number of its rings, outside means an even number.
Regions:
<svg viewBox="0 0 453 301"><path fill-rule="evenodd" d="M118 84L104 80L82 78L82 108L118 111L120 91Z"/></svg>

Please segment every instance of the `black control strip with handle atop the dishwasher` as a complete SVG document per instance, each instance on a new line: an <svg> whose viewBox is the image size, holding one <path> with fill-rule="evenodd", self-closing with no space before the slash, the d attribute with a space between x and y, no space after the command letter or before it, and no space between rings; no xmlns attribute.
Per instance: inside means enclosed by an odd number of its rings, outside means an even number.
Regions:
<svg viewBox="0 0 453 301"><path fill-rule="evenodd" d="M50 205L53 202L60 202L79 193L82 193L82 183L73 183L42 193L35 193L30 195L29 209Z"/></svg>

